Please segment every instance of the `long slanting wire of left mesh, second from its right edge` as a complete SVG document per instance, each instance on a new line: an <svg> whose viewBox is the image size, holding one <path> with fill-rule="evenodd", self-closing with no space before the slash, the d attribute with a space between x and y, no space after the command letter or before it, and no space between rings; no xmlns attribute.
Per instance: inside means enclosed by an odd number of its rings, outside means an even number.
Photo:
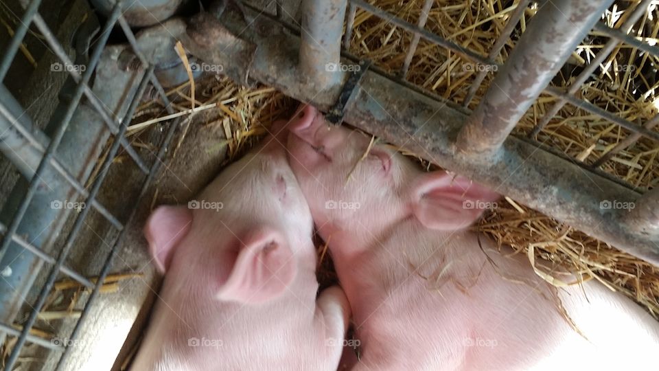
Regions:
<svg viewBox="0 0 659 371"><path fill-rule="evenodd" d="M153 66L150 67L146 72L146 74L144 74L139 84L139 88L137 89L137 93L133 97L130 107L128 108L128 113L126 113L124 120L122 120L122 125L119 127L119 133L117 134L118 136L123 136L126 133L126 128L128 127L128 124L130 124L130 119L132 118L133 113L135 113L135 109L137 109L137 104L139 104L139 99L137 99L137 97L141 97L144 91L146 90L146 87L149 82L150 74L153 72L153 69L154 69ZM108 174L108 170L110 170L110 165L112 164L112 161L115 155L117 154L117 150L119 150L119 146L120 146L119 140L115 140L115 142L113 142L108 152L108 156L103 161L103 164L101 166L101 171L98 177L94 180L94 183L91 186L91 190L89 191L89 197L86 199L86 203L91 203L91 201L93 201L93 199L96 197L98 191L101 188L101 184L103 183L106 175ZM34 306L32 307L32 312L30 313L30 317L27 318L27 321L23 325L23 331L21 332L21 336L19 336L19 338L16 340L14 349L12 350L10 356L8 357L5 363L5 371L12 370L14 363L16 363L16 359L18 359L19 354L21 353L21 348L23 348L23 344L25 344L27 334L30 332L30 329L34 325L34 322L36 321L36 317L38 316L38 313L41 311L41 308L43 308L43 304L45 304L45 301L50 293L50 290L53 284L55 283L58 272L61 269L62 265L64 264L64 260L67 258L67 255L69 254L69 251L73 246L73 241L78 235L78 232L80 232L80 229L82 228L84 219L86 218L87 214L89 214L89 209L86 208L82 209L80 214L78 214L75 223L73 223L73 227L71 228L71 233L69 233L69 236L67 236L67 240L65 242L64 247L62 247L62 250L60 251L57 262L55 263L55 266L51 269L49 276L46 280L46 283L44 284L43 288L41 289L41 292L39 293L39 297L36 301L36 304L34 304ZM99 279L98 282L102 282L102 281Z"/></svg>

